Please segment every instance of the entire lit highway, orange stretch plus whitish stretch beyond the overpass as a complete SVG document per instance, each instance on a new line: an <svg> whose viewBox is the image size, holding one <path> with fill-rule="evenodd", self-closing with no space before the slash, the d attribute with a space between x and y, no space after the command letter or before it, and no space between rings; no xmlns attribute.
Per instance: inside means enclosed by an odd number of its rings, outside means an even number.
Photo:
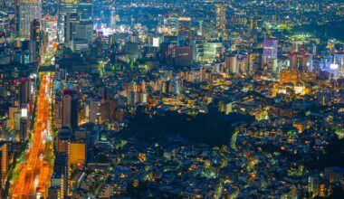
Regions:
<svg viewBox="0 0 344 199"><path fill-rule="evenodd" d="M41 54L40 67L54 64L57 43L57 19L47 17L46 32L49 44ZM41 72L39 94L37 96L36 119L29 147L22 162L19 162L14 174L17 178L11 182L12 198L47 198L48 188L53 175L53 138L51 135L51 116L53 94L53 72Z"/></svg>

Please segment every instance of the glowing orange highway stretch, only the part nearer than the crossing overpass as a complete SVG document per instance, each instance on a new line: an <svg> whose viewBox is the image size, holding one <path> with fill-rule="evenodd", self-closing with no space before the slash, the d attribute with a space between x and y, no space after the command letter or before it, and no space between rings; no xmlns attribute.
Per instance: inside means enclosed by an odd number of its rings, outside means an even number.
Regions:
<svg viewBox="0 0 344 199"><path fill-rule="evenodd" d="M28 160L23 163L19 178L14 185L13 198L47 198L53 175L53 158L50 137L49 112L52 103L53 73L40 75L41 88L37 101L35 129L31 147L27 150Z"/></svg>

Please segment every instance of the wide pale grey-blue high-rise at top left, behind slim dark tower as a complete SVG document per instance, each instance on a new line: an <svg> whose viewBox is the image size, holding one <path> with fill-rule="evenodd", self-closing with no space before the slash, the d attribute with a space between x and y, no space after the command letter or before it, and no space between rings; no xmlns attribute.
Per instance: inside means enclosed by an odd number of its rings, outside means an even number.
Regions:
<svg viewBox="0 0 344 199"><path fill-rule="evenodd" d="M34 19L42 18L40 0L15 1L15 26L20 37L30 38L30 24Z"/></svg>

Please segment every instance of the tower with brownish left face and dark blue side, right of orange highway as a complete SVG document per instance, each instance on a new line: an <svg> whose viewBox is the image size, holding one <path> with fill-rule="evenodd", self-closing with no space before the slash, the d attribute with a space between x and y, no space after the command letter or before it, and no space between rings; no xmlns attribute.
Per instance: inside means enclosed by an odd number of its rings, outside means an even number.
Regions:
<svg viewBox="0 0 344 199"><path fill-rule="evenodd" d="M64 90L62 97L62 127L78 128L78 95L73 90Z"/></svg>

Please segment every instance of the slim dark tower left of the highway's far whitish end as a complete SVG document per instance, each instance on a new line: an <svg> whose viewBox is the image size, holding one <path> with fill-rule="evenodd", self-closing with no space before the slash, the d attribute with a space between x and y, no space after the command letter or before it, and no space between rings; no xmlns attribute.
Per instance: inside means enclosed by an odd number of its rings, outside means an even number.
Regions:
<svg viewBox="0 0 344 199"><path fill-rule="evenodd" d="M30 42L32 44L32 56L33 61L36 61L40 57L41 49L41 24L37 19L33 19L30 24Z"/></svg>

